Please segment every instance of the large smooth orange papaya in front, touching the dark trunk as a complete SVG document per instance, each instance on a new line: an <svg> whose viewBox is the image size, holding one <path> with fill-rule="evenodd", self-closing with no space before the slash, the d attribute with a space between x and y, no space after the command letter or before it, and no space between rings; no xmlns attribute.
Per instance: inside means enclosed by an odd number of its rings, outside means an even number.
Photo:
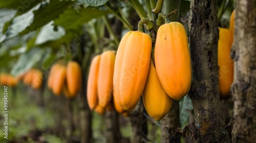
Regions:
<svg viewBox="0 0 256 143"><path fill-rule="evenodd" d="M174 100L181 100L191 85L191 61L186 31L180 22L165 23L157 32L155 64L158 78Z"/></svg>

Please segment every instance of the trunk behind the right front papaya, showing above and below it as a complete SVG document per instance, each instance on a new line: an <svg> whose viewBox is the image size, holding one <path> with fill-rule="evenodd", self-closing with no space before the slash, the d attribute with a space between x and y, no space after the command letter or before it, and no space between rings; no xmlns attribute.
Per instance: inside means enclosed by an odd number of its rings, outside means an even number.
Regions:
<svg viewBox="0 0 256 143"><path fill-rule="evenodd" d="M172 14L170 21L179 20L180 0L164 0L162 12L168 14L177 9L177 12ZM174 101L172 109L165 115L160 124L161 142L180 142L180 135L177 134L177 128L180 127L180 106L179 101Z"/></svg>

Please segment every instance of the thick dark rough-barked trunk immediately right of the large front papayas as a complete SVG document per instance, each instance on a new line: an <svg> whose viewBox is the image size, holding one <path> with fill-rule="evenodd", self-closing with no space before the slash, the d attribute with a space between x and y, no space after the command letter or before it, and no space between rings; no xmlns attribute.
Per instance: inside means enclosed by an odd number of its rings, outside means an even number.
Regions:
<svg viewBox="0 0 256 143"><path fill-rule="evenodd" d="M188 26L193 70L189 97L195 121L185 127L183 136L193 142L230 142L218 89L217 2L191 0Z"/></svg>

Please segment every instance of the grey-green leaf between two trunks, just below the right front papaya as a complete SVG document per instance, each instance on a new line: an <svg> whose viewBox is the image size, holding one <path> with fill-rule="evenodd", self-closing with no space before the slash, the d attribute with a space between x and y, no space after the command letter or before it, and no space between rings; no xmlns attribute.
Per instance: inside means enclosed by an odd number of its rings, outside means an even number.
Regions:
<svg viewBox="0 0 256 143"><path fill-rule="evenodd" d="M193 110L192 102L187 96L185 96L179 102L180 104L180 122L183 129L189 123L189 111Z"/></svg>

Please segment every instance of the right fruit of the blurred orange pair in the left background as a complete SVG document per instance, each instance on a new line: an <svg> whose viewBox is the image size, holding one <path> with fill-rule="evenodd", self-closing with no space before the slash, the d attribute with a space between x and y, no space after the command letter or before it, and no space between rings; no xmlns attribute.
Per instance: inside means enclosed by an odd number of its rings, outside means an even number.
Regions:
<svg viewBox="0 0 256 143"><path fill-rule="evenodd" d="M67 65L67 87L71 97L75 97L81 89L82 71L80 65L75 61Z"/></svg>

